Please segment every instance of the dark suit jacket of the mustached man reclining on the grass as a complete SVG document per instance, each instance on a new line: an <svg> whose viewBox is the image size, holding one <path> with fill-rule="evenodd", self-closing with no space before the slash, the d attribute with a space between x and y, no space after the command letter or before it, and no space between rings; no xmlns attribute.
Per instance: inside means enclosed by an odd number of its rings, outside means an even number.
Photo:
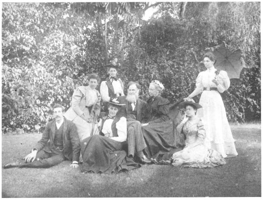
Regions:
<svg viewBox="0 0 263 200"><path fill-rule="evenodd" d="M64 147L64 156L73 161L79 161L80 157L80 139L77 133L76 125L67 120L64 117L63 122L63 147ZM48 122L45 130L42 134L41 140L34 146L38 151L44 150L51 153L51 148L55 149L54 136L56 132L56 120Z"/></svg>

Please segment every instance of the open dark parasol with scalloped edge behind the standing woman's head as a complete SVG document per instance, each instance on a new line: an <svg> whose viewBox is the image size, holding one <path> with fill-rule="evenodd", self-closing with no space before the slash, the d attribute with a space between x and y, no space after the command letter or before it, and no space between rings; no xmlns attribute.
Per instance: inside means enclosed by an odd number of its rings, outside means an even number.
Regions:
<svg viewBox="0 0 263 200"><path fill-rule="evenodd" d="M240 72L246 66L239 48L233 48L223 41L221 44L205 48L205 50L211 51L215 55L214 66L216 69L225 70L230 79L240 78Z"/></svg>

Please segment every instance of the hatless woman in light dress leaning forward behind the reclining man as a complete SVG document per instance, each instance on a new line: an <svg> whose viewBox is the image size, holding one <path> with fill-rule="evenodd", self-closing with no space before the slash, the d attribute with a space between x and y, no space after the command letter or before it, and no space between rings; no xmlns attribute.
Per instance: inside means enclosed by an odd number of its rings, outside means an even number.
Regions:
<svg viewBox="0 0 263 200"><path fill-rule="evenodd" d="M64 116L76 126L80 141L99 134L97 118L101 108L101 95L96 89L100 78L96 73L88 75L88 86L79 86L72 95L71 107Z"/></svg>

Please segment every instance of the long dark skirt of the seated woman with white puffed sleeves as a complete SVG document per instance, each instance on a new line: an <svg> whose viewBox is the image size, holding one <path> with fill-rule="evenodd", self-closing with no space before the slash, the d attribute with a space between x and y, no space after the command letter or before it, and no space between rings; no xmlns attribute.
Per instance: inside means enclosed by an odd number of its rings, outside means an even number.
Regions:
<svg viewBox="0 0 263 200"><path fill-rule="evenodd" d="M127 142L101 135L87 137L81 142L82 171L114 173L139 168L141 165L127 156Z"/></svg>

